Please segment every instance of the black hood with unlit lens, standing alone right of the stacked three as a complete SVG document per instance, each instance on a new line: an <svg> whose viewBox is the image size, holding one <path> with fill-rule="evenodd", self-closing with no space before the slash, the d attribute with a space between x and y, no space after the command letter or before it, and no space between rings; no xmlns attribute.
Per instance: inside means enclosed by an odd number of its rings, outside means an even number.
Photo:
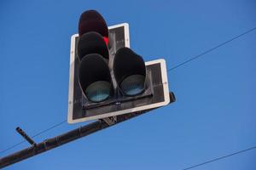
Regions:
<svg viewBox="0 0 256 170"><path fill-rule="evenodd" d="M143 58L130 48L119 48L115 54L113 75L125 95L134 96L143 93L146 66Z"/></svg>

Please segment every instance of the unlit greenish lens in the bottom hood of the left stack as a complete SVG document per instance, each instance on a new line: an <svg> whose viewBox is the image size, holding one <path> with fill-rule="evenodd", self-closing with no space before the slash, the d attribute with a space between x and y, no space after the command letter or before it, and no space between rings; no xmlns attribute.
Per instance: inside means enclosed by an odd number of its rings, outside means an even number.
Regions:
<svg viewBox="0 0 256 170"><path fill-rule="evenodd" d="M101 102L110 96L111 84L105 81L93 82L85 89L85 95L90 101Z"/></svg>

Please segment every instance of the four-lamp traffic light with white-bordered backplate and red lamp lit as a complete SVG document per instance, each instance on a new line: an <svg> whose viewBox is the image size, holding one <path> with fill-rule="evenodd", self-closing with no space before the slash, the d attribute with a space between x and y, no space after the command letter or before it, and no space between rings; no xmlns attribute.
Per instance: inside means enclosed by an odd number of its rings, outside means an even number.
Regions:
<svg viewBox="0 0 256 170"><path fill-rule="evenodd" d="M144 62L129 46L128 24L109 27L95 10L72 37L68 122L153 109L170 102L166 62Z"/></svg>

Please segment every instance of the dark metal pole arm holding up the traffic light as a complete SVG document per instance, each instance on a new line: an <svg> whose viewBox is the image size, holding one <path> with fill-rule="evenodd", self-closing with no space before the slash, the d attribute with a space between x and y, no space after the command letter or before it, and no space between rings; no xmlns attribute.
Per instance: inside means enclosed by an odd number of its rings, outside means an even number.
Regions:
<svg viewBox="0 0 256 170"><path fill-rule="evenodd" d="M175 101L174 94L170 93L170 103ZM154 108L156 109L156 108ZM151 109L151 110L154 110ZM92 122L88 125L85 125L83 127L76 128L72 131L69 131L67 133L62 133L61 135L55 136L51 139L46 139L41 143L34 144L31 147L26 148L25 150L20 150L18 152L15 152L14 154L11 154L9 156L5 156L0 159L0 168L7 167L9 165L12 165L18 161L25 160L29 157L36 156L38 154L43 153L44 151L54 149L55 147L61 146L62 144L67 144L68 142L71 142L75 139L82 138L84 136L87 136L91 133L96 133L97 131L100 131L104 128L111 127L119 122L124 122L128 119L131 119L135 116L140 116L143 113L146 113L148 111L139 111L134 113L128 113L125 115L119 115L116 116L116 122L113 124L108 124L108 122L105 122L103 120L99 120L96 122Z"/></svg>

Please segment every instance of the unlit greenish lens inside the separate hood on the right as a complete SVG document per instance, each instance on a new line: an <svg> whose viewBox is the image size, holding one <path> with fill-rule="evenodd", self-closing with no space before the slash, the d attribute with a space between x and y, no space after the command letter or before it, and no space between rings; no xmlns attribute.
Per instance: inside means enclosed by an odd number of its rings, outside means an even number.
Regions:
<svg viewBox="0 0 256 170"><path fill-rule="evenodd" d="M134 96L143 93L144 82L145 77L143 77L142 75L132 75L130 77L125 78L125 80L121 82L120 88L122 88L123 92L126 95Z"/></svg>

